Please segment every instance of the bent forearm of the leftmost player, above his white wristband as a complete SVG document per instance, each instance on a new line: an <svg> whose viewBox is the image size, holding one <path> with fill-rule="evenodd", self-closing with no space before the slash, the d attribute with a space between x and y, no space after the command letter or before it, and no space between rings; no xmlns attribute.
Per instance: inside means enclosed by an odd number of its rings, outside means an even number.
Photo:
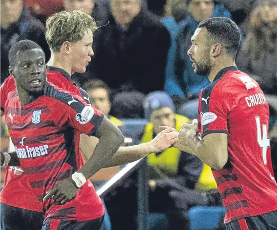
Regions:
<svg viewBox="0 0 277 230"><path fill-rule="evenodd" d="M92 156L78 172L83 173L88 179L100 169L108 167L108 162L123 143L123 140L122 134L112 138L109 135L100 137Z"/></svg>

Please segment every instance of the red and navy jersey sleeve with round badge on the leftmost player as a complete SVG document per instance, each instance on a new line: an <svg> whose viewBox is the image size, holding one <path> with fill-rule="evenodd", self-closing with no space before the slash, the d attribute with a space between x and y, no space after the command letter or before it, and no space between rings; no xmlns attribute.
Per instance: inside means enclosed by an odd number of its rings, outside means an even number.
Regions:
<svg viewBox="0 0 277 230"><path fill-rule="evenodd" d="M47 102L54 122L61 128L71 126L89 136L102 122L104 115L88 104L80 95L69 92L56 92L55 97ZM46 99L47 100L47 99Z"/></svg>

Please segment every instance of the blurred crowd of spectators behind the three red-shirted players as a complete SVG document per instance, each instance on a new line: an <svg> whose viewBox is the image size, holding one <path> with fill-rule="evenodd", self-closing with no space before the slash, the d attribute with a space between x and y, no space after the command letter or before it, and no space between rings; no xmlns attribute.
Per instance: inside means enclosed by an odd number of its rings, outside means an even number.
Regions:
<svg viewBox="0 0 277 230"><path fill-rule="evenodd" d="M64 9L92 15L99 27L93 34L94 56L86 73L74 73L72 79L123 133L120 119L147 119L141 142L153 139L159 125L178 130L197 118L197 97L209 80L194 73L187 56L190 38L204 19L233 19L242 32L236 64L266 94L277 162L277 0L1 0L0 8L1 83L9 75L8 51L19 40L38 43L49 59L45 23L50 15ZM165 212L171 229L187 225L192 206L222 205L211 169L198 158L170 148L149 155L148 164L150 211ZM117 191L119 200L129 197L124 189ZM113 204L109 197L107 208ZM126 210L119 214L111 208L114 229L117 222L120 229L122 213L133 215L129 206Z"/></svg>

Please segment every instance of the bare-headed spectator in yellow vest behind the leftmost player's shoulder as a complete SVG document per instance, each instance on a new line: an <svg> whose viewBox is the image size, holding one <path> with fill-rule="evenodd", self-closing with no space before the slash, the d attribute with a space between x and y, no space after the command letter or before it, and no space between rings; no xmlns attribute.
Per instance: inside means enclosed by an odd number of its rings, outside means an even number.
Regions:
<svg viewBox="0 0 277 230"><path fill-rule="evenodd" d="M88 92L93 107L101 111L109 120L120 129L124 135L124 127L122 121L109 114L110 102L110 89L107 84L99 79L90 80L84 85L85 90Z"/></svg>

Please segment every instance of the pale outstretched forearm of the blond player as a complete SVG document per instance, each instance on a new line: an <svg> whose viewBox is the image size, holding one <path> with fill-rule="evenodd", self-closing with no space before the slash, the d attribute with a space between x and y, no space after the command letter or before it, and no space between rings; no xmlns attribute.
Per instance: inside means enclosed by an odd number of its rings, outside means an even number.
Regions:
<svg viewBox="0 0 277 230"><path fill-rule="evenodd" d="M144 158L148 154L154 152L156 152L156 149L154 145L151 144L151 142L126 147L121 146L113 155L107 167L125 165Z"/></svg>

